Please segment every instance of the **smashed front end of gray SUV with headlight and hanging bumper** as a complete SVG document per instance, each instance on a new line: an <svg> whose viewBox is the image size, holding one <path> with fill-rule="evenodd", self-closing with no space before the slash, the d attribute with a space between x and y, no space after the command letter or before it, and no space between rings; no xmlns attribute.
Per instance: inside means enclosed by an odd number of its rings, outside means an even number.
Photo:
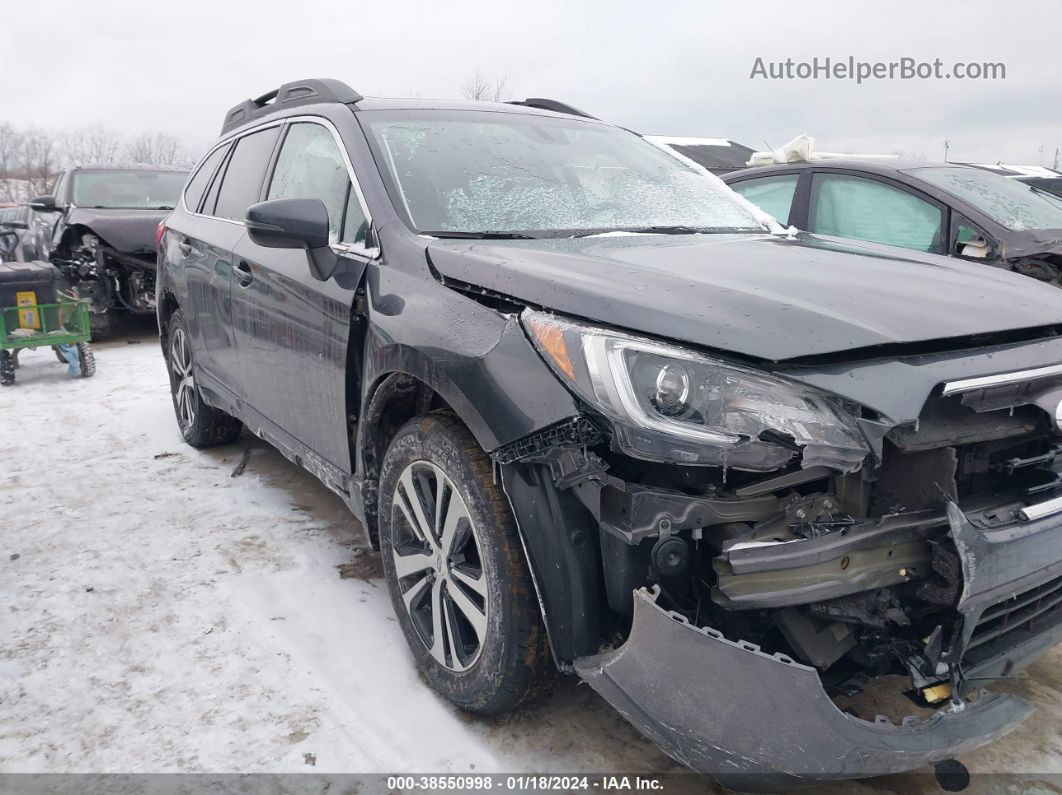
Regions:
<svg viewBox="0 0 1062 795"><path fill-rule="evenodd" d="M586 407L495 452L532 560L548 548L567 577L568 603L543 593L551 639L568 633L554 652L668 754L723 777L862 777L1028 716L982 688L1062 639L1062 368L950 380L957 357L938 357L920 377L944 376L897 421L620 332L524 323ZM595 577L600 604L575 587Z"/></svg>

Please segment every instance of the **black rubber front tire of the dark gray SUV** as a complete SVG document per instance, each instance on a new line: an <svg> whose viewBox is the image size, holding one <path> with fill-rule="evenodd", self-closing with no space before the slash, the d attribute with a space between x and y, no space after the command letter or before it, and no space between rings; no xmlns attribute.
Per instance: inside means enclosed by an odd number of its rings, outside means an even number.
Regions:
<svg viewBox="0 0 1062 795"><path fill-rule="evenodd" d="M445 553L436 554L432 551L440 548L432 547L431 543L421 543L416 547L419 541L414 535L415 530L407 519L407 517L412 518L410 514L412 503L395 504L396 497L402 500L402 496L397 494L399 479L407 470L415 472L415 467L425 467L423 472L430 471L427 467L438 467L438 471L448 479L453 491L460 495L461 501L455 503L452 496L444 499L443 504L446 505L444 511L448 515L453 505L459 505L462 516L467 517L461 521L470 523L470 529L465 531L465 534L475 540L472 549L476 554L473 557L478 558L478 571L481 577L477 582L479 588L485 592L485 600L482 600L485 612L482 624L485 630L482 636L475 633L478 653L474 660L467 662L467 668L464 670L455 670L450 664L445 661L440 662L433 656L429 642L432 647L438 649L434 644L435 633L432 632L430 639L425 636L424 625L427 619L423 618L424 607L412 610L419 615L418 628L402 597L404 592L408 595L419 589L418 592L424 594L424 600L434 605L436 591L433 588L435 582L441 581L439 592L443 594L443 600L448 601L446 608L457 615L462 608L458 607L458 602L447 594L450 588L460 587L453 578L453 569L467 566L468 560L468 555L462 553L463 560L455 566L452 553L449 559L443 560ZM417 477L421 482L427 482L423 481L423 478L430 480L431 476L425 476L423 472L422 476L410 476L410 478ZM379 530L383 571L406 641L417 668L432 688L458 707L482 714L514 709L532 697L545 679L550 659L534 584L528 571L516 521L509 501L494 482L493 476L490 459L468 430L456 417L439 413L416 417L402 426L388 448L380 473ZM435 494L448 492L448 485L440 486L438 479L434 483ZM427 512L424 517L427 517ZM442 523L445 524L445 521ZM433 529L432 533L434 535ZM460 530L456 530L452 536L458 536L460 533ZM443 535L442 529L440 535ZM435 537L434 541L439 540ZM412 553L413 556L436 554L435 568L423 567L421 571L399 580L396 573L395 549L397 547L409 553L410 543L417 549ZM456 547L457 542L453 546ZM473 565L472 570L475 569ZM430 578L428 585L422 586L424 582L422 575ZM462 590L465 591L463 599L467 599L468 593L472 593L468 589L462 588ZM458 595L460 594L453 594ZM415 603L415 600L411 601L411 604ZM440 610L440 615L452 618L447 613L447 609ZM431 616L434 616L433 611ZM462 632L461 627L455 624L449 626L451 628L442 630L441 634L446 640L440 645L446 647L448 641L449 649L455 650L456 643L452 638L458 637L458 642L461 642L460 636L468 637L468 633ZM462 643L462 650L467 647ZM456 660L456 654L458 653L451 651L451 661ZM465 666L465 661L456 664L457 668L461 668Z"/></svg>

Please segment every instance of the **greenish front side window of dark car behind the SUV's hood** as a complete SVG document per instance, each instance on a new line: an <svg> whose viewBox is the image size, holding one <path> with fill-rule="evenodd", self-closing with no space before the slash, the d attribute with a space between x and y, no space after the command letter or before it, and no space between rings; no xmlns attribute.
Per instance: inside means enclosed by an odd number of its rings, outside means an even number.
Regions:
<svg viewBox="0 0 1062 795"><path fill-rule="evenodd" d="M945 208L900 183L816 171L808 231L943 254Z"/></svg>

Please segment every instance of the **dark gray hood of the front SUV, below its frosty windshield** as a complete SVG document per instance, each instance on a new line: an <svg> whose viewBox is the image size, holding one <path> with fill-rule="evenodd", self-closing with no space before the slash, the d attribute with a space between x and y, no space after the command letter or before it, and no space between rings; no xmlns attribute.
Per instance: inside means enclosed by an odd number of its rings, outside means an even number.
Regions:
<svg viewBox="0 0 1062 795"><path fill-rule="evenodd" d="M810 235L432 240L444 277L767 361L1062 324L1062 290Z"/></svg>

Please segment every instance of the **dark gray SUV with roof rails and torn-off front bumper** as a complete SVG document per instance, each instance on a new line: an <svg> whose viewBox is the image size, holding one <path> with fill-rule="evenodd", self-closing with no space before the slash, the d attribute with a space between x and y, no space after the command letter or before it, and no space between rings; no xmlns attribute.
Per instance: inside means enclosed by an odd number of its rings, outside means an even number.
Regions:
<svg viewBox="0 0 1062 795"><path fill-rule="evenodd" d="M1062 637L1062 294L756 212L560 103L287 84L161 230L181 431L340 495L464 709L555 664L717 776L949 759Z"/></svg>

